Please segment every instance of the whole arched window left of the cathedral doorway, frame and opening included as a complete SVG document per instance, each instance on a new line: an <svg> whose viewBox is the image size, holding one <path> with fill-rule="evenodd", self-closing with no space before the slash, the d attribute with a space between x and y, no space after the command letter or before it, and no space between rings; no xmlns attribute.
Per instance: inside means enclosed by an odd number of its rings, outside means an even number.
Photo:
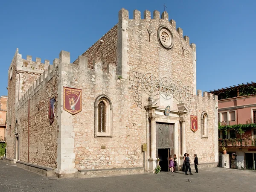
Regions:
<svg viewBox="0 0 256 192"><path fill-rule="evenodd" d="M95 101L95 136L112 137L112 103L105 95Z"/></svg>

